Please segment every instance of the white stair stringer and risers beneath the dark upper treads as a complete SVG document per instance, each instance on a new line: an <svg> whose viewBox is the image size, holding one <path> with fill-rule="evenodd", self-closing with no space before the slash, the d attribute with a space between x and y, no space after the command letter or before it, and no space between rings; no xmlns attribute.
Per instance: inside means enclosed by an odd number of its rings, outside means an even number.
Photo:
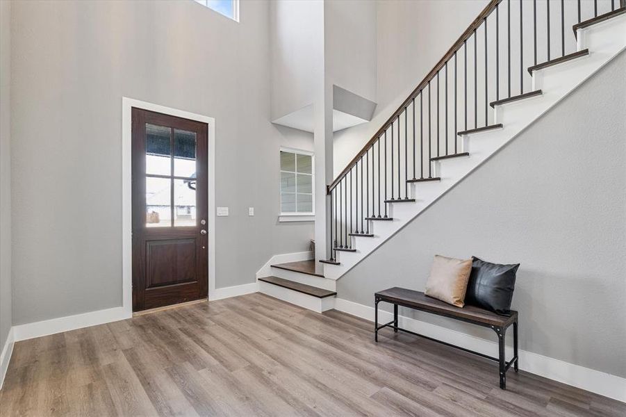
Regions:
<svg viewBox="0 0 626 417"><path fill-rule="evenodd" d="M543 95L496 106L494 123L502 123L502 129L463 136L459 152L470 152L470 155L434 162L433 177L441 177L441 180L411 183L409 189L415 203L391 203L389 211L393 221L371 221L370 232L374 237L352 237L354 239L352 247L356 247L356 252L338 252L336 256L340 264L324 264L324 277L336 280L354 268L377 247L409 224L413 218L437 202L457 183L494 156L499 149L624 51L626 15L579 29L577 50L583 49L589 49L588 56L534 71L532 90L541 89Z"/></svg>

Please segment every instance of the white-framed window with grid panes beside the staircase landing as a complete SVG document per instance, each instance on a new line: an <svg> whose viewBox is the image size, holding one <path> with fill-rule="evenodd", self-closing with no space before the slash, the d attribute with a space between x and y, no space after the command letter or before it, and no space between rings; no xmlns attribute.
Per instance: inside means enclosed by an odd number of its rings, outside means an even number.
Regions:
<svg viewBox="0 0 626 417"><path fill-rule="evenodd" d="M281 214L313 214L313 154L281 149Z"/></svg>

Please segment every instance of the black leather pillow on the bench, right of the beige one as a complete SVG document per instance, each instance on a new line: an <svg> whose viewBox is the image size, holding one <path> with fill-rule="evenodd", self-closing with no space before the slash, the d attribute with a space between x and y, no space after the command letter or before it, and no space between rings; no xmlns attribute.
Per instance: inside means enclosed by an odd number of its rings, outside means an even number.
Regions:
<svg viewBox="0 0 626 417"><path fill-rule="evenodd" d="M500 265L483 261L476 256L472 258L472 272L465 297L466 304L509 316L515 277L520 264Z"/></svg>

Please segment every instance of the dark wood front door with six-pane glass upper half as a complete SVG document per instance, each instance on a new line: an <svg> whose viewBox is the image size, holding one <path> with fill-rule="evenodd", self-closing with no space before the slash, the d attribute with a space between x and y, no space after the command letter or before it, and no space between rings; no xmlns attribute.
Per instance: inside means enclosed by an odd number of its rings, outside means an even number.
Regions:
<svg viewBox="0 0 626 417"><path fill-rule="evenodd" d="M133 108L133 311L207 296L207 133Z"/></svg>

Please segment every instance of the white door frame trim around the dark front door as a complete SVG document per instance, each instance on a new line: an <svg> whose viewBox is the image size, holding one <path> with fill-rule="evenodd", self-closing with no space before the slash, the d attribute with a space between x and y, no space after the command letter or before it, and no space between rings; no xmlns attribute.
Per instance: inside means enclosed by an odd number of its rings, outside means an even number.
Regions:
<svg viewBox="0 0 626 417"><path fill-rule="evenodd" d="M133 107L208 124L208 297L215 293L215 119L177 108L122 97L122 309L133 316L132 112Z"/></svg>

